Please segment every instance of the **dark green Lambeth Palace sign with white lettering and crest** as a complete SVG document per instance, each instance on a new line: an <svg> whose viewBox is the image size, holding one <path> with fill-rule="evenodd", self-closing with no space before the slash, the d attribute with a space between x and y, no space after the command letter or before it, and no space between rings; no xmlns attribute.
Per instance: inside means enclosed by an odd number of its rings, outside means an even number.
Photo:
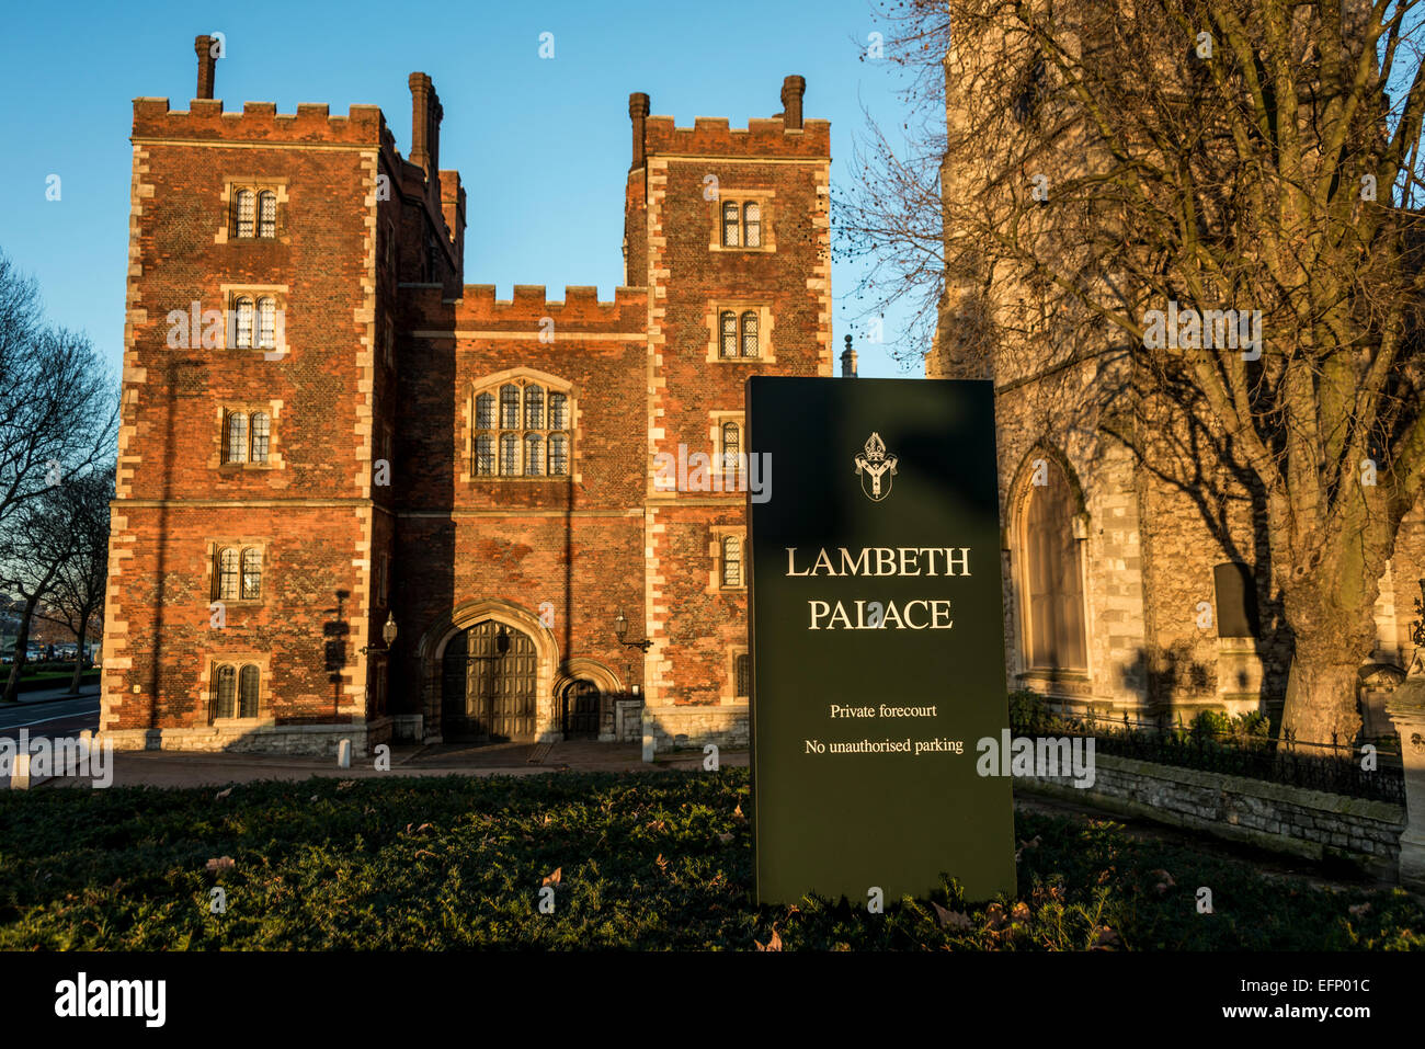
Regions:
<svg viewBox="0 0 1425 1049"><path fill-rule="evenodd" d="M988 382L754 378L757 898L1015 892ZM767 467L771 473L767 475ZM1002 734L1005 734L1002 737Z"/></svg>

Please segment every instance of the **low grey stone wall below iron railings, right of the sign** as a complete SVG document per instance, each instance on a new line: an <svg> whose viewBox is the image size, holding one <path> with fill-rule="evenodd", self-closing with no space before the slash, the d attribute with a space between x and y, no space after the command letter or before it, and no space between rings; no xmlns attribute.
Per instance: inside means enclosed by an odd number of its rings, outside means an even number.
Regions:
<svg viewBox="0 0 1425 1049"><path fill-rule="evenodd" d="M1015 787L1275 852L1345 859L1389 879L1405 830L1402 805L1112 754L1094 757L1093 787L1072 777L1017 777Z"/></svg>

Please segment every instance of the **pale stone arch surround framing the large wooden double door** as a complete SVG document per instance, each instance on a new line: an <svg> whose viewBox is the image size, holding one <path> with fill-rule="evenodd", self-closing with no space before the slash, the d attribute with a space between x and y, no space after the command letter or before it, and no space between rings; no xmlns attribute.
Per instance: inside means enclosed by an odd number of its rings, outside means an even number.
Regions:
<svg viewBox="0 0 1425 1049"><path fill-rule="evenodd" d="M470 641L469 631L472 627L490 623L493 627L484 627L482 633L492 633L497 636L500 627L506 629L510 637L512 648L516 647L514 636L527 639L529 648L532 651L526 653L533 661L533 667L507 667L510 673L514 674L533 674L533 727L527 738L539 741L556 741L560 738L560 711L554 701L554 673L559 667L559 643L554 640L554 634L540 621L539 616L522 609L510 601L502 601L497 599L483 599L477 601L466 601L456 606L450 614L443 616L440 620L433 623L429 630L422 636L420 643L416 646L416 657L420 660L422 673L422 713L425 715L426 724L426 743L439 743L445 738L443 733L443 715L446 710L453 710L456 706L452 697L452 703L446 703L446 687L453 684L455 674L452 673L447 680L446 674L446 648L455 643L457 647L465 646L466 651L462 656L470 656ZM465 637L463 641L456 641L457 637ZM523 643L519 643L523 647ZM490 656L494 653L476 653L477 657ZM502 668L504 670L504 668ZM477 670L470 670L472 674L479 676ZM469 687L470 677L465 678L466 687ZM520 686L524 688L526 686ZM463 697L462 697L463 698ZM467 707L469 710L469 707ZM476 708L479 710L479 707ZM516 710L516 717L519 711ZM522 731L522 737L524 733Z"/></svg>

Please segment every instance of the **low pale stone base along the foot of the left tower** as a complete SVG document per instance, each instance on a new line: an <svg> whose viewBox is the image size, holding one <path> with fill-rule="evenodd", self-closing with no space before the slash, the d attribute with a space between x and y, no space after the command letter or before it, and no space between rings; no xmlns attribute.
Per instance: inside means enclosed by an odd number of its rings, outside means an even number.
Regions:
<svg viewBox="0 0 1425 1049"><path fill-rule="evenodd" d="M202 725L198 728L124 728L95 733L95 743L113 741L114 750L172 750L228 754L291 754L336 757L342 740L352 741L352 757L369 757L392 740L392 720L379 718L351 725Z"/></svg>

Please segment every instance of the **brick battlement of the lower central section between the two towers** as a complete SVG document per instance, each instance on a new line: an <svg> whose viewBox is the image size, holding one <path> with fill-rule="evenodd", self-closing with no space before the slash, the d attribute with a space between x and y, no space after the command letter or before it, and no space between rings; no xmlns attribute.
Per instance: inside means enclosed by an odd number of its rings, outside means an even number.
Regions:
<svg viewBox="0 0 1425 1049"><path fill-rule="evenodd" d="M547 298L542 284L516 284L509 299L496 299L493 284L467 284L455 302L440 302L436 288L410 291L413 305L423 308L428 318L443 314L456 329L539 332L547 318L554 322L554 339L559 341L561 334L641 332L647 324L648 292L644 288L616 288L613 302L600 301L598 288L591 285L570 285L563 299Z"/></svg>

